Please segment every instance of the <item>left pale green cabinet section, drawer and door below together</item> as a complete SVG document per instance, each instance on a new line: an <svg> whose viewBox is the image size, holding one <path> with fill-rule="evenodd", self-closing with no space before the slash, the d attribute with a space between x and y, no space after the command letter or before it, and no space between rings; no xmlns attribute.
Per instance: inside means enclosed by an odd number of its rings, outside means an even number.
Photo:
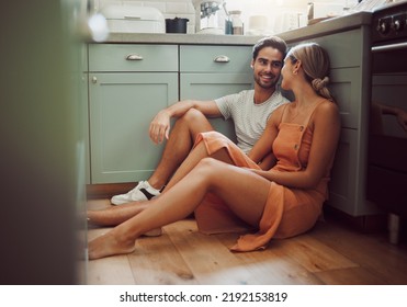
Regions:
<svg viewBox="0 0 407 307"><path fill-rule="evenodd" d="M151 174L163 147L149 139L148 127L158 111L178 100L177 70L177 46L90 45L92 184Z"/></svg>

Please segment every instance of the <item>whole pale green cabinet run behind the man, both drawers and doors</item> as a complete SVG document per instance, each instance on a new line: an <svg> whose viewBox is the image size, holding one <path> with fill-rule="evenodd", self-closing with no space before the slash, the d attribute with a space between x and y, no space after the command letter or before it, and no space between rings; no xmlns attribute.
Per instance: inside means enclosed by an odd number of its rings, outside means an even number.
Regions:
<svg viewBox="0 0 407 307"><path fill-rule="evenodd" d="M149 139L152 117L179 99L251 89L250 60L248 46L90 44L90 183L148 178L163 149ZM211 122L236 139L231 121Z"/></svg>

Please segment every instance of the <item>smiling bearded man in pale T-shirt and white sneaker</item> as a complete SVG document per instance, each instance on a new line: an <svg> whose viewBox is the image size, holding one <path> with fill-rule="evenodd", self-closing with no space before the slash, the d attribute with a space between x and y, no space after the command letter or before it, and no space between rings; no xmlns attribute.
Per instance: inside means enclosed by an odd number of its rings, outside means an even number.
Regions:
<svg viewBox="0 0 407 307"><path fill-rule="evenodd" d="M289 102L276 84L286 54L283 39L272 36L260 39L252 52L255 89L226 95L214 101L179 101L161 110L150 123L149 135L154 143L167 139L161 160L147 181L140 181L126 194L115 195L111 202L121 205L146 201L160 194L167 181L190 152L195 137L214 128L207 117L233 118L238 147L250 156L250 150L264 130L270 114ZM178 121L170 134L170 120ZM268 159L260 162L268 167Z"/></svg>

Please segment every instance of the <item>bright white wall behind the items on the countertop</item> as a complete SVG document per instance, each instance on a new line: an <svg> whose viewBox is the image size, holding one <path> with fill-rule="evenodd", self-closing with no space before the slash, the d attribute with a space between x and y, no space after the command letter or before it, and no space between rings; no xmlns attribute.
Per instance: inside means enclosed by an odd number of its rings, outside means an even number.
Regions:
<svg viewBox="0 0 407 307"><path fill-rule="evenodd" d="M94 11L109 4L145 5L159 9L165 18L188 18L189 33L194 33L195 11L192 0L93 0ZM241 10L245 27L248 30L250 15L267 15L270 34L295 29L306 24L307 3L309 0L225 0L228 10ZM357 0L314 0L316 13L325 13L327 4L340 8L352 5ZM319 16L319 15L317 15ZM299 22L298 22L299 20Z"/></svg>

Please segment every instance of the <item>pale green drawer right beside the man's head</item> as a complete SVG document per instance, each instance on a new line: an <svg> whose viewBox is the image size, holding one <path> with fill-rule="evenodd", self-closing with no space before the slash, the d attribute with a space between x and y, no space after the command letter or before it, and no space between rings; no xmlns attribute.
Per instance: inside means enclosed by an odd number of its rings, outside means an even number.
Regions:
<svg viewBox="0 0 407 307"><path fill-rule="evenodd" d="M181 72L250 72L249 46L180 46Z"/></svg>

